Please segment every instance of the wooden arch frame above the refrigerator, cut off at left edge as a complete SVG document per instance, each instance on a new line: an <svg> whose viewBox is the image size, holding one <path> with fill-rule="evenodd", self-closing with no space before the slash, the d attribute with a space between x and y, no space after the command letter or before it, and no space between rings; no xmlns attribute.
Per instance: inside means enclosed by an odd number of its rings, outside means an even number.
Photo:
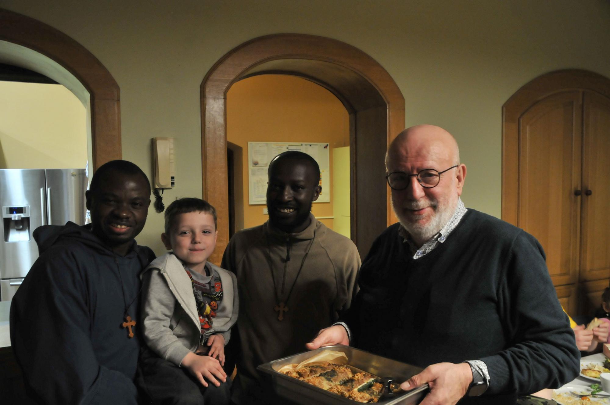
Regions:
<svg viewBox="0 0 610 405"><path fill-rule="evenodd" d="M0 40L25 46L62 65L84 85L91 103L91 148L98 168L121 159L120 91L99 60L59 30L9 10L0 9Z"/></svg>

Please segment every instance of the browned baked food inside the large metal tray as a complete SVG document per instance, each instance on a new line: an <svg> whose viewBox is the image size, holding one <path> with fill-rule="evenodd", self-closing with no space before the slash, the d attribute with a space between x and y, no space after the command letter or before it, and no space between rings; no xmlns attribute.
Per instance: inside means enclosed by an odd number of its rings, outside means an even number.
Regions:
<svg viewBox="0 0 610 405"><path fill-rule="evenodd" d="M379 401L384 390L376 376L364 371L354 372L346 365L330 362L284 371L284 374L360 403ZM402 392L398 384L391 388L394 393Z"/></svg>

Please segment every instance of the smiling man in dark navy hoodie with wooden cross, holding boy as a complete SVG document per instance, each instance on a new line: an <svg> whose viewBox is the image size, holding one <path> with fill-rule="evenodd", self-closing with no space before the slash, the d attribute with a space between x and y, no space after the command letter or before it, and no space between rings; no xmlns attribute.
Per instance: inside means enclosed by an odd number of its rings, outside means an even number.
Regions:
<svg viewBox="0 0 610 405"><path fill-rule="evenodd" d="M38 403L137 403L138 276L154 254L134 238L150 193L140 168L113 160L85 193L91 224L34 231L40 257L13 298L10 339Z"/></svg>

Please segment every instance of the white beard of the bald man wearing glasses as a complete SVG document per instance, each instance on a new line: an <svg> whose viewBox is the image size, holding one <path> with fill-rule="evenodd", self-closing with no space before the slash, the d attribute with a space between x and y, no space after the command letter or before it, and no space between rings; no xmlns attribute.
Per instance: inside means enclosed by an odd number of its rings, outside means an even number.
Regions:
<svg viewBox="0 0 610 405"><path fill-rule="evenodd" d="M412 238L415 240L427 241L443 228L445 224L453 216L455 212L458 201L450 201L450 199L426 199L420 201L410 201L407 203L400 204L401 210L397 210L397 204L392 197L392 209L394 213L398 217L398 221L403 226L404 229L409 232ZM403 209L422 209L424 207L431 206L434 209L434 213L429 218L428 223L420 224L420 223L412 223L406 216L403 215ZM427 214L426 214L427 215ZM420 220L424 217L424 215L418 215L415 220Z"/></svg>

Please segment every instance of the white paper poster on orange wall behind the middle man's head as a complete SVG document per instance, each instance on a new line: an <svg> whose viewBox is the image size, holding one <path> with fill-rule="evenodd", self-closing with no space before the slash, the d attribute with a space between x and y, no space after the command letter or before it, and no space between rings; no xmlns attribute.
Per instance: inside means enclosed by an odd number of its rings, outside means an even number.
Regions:
<svg viewBox="0 0 610 405"><path fill-rule="evenodd" d="M301 151L313 157L320 166L320 185L322 192L314 203L329 203L330 194L330 156L328 143L301 142L248 142L248 202L267 203L267 167L271 159L285 151Z"/></svg>

